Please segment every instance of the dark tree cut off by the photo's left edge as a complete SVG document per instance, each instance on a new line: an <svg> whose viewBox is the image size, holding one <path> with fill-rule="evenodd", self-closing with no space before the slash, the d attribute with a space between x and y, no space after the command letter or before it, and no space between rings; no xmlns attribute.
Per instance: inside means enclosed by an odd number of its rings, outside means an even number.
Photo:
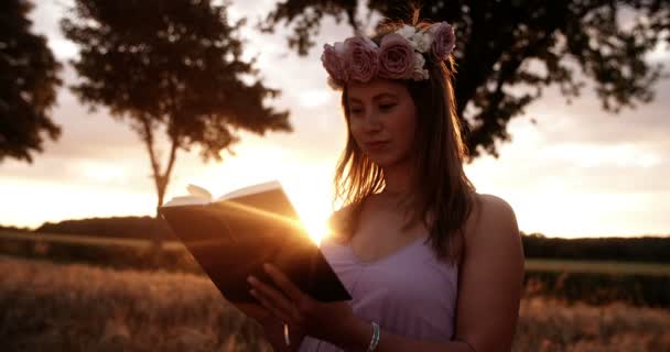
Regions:
<svg viewBox="0 0 670 352"><path fill-rule="evenodd" d="M0 2L0 162L33 162L42 152L43 133L55 141L61 129L48 116L62 85L62 65L43 35L30 32L29 1Z"/></svg>

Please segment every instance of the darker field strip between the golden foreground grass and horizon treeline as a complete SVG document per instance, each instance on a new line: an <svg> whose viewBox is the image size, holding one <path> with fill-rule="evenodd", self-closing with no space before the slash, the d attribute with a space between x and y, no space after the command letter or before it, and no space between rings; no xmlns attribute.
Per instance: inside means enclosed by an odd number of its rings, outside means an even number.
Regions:
<svg viewBox="0 0 670 352"><path fill-rule="evenodd" d="M162 249L156 251L141 239L0 231L0 255L115 270L204 274L180 242L163 242ZM528 297L670 309L670 264L529 258L525 279Z"/></svg>

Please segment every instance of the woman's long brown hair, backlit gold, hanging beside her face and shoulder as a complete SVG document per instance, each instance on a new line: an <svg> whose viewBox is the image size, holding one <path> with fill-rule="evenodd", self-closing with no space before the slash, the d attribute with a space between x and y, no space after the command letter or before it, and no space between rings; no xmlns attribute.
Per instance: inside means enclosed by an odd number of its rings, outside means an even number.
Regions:
<svg viewBox="0 0 670 352"><path fill-rule="evenodd" d="M430 22L418 20L418 12L411 21L418 30L426 29ZM385 34L402 28L404 22L386 22L371 37L378 45ZM430 63L430 64L429 64ZM426 59L430 78L428 80L399 80L409 90L417 107L417 134L413 153L415 155L414 180L417 191L408 207L409 227L423 221L430 230L430 241L437 258L461 262L464 245L464 224L476 201L475 186L463 170L467 146L463 142L462 127L456 113L452 80L455 62L452 56L440 64ZM354 234L360 206L366 197L381 191L385 187L383 170L367 158L358 147L349 129L347 87L342 91L342 108L347 123L347 143L335 172L335 199L343 201L332 227L338 235L347 240ZM407 199L406 199L407 200ZM432 221L429 213L432 211ZM343 217L337 217L342 215ZM430 222L430 223L429 223Z"/></svg>

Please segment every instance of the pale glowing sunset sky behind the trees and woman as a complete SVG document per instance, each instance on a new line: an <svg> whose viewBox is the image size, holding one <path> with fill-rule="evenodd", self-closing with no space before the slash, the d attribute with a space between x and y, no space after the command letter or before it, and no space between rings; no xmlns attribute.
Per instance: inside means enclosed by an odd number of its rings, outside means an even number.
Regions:
<svg viewBox="0 0 670 352"><path fill-rule="evenodd" d="M76 56L76 46L58 31L71 2L34 2L34 32L48 37L60 61ZM249 16L253 24L272 2L235 1L230 15ZM247 55L258 55L266 84L282 90L272 105L290 109L294 132L266 138L242 133L242 142L234 147L237 155L224 155L220 164L202 163L196 151L181 152L168 199L185 194L190 183L219 196L279 179L310 227L328 216L345 124L338 94L326 85L318 57L324 43L342 41L352 30L326 20L307 57L288 52L284 35L260 34L251 25L242 32L249 41ZM670 48L659 47L648 58L670 63ZM62 77L65 85L77 79L68 65ZM602 111L590 88L572 105L558 89L545 89L509 124L514 140L499 146L500 157L480 157L465 166L466 173L478 193L512 206L526 233L670 234L670 79L655 88L653 102L619 114ZM149 156L128 124L111 119L104 108L89 113L65 87L53 119L63 134L45 143L33 164L0 164L0 224L34 228L45 221L153 215L156 196Z"/></svg>

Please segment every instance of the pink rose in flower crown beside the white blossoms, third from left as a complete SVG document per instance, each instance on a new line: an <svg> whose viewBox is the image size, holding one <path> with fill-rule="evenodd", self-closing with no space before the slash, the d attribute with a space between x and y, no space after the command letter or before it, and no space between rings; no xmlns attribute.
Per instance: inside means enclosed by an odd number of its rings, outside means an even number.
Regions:
<svg viewBox="0 0 670 352"><path fill-rule="evenodd" d="M391 79L410 78L414 70L414 47L398 33L383 36L379 48L379 76Z"/></svg>

